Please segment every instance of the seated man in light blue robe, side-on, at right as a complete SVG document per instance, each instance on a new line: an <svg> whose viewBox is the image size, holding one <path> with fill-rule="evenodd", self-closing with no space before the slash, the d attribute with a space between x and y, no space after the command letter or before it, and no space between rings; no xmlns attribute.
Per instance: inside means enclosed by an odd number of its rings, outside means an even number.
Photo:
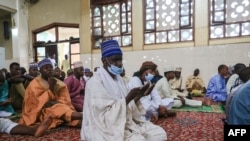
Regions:
<svg viewBox="0 0 250 141"><path fill-rule="evenodd" d="M227 90L226 90L226 79L228 75L227 65L219 65L218 74L210 78L207 86L206 101L207 105L210 105L211 102L225 104L227 99Z"/></svg>

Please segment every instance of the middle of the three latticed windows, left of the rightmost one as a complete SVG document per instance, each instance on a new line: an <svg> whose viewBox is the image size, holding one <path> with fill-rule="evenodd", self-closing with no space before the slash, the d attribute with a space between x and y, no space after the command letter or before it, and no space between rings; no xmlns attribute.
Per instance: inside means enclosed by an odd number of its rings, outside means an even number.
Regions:
<svg viewBox="0 0 250 141"><path fill-rule="evenodd" d="M144 44L192 41L193 0L144 0Z"/></svg>

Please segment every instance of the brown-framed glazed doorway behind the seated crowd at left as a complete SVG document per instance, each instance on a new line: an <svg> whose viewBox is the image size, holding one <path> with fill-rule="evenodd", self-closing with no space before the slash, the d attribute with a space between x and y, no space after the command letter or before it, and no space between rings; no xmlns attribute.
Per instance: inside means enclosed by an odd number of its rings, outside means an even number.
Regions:
<svg viewBox="0 0 250 141"><path fill-rule="evenodd" d="M78 24L53 23L32 32L35 62L55 55L57 65L60 67L65 54L69 56L71 63L80 60Z"/></svg>

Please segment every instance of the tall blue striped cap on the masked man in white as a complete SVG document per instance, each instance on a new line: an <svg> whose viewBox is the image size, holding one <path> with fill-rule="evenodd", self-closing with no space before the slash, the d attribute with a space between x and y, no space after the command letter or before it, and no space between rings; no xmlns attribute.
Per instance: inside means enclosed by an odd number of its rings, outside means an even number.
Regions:
<svg viewBox="0 0 250 141"><path fill-rule="evenodd" d="M101 44L102 57L122 55L122 50L116 40L107 40Z"/></svg>

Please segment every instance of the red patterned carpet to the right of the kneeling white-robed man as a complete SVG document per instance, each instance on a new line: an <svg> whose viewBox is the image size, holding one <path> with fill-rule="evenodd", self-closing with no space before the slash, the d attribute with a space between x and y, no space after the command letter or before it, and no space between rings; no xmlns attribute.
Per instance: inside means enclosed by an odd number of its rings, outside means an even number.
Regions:
<svg viewBox="0 0 250 141"><path fill-rule="evenodd" d="M177 112L176 117L160 119L168 141L223 141L222 113Z"/></svg>

